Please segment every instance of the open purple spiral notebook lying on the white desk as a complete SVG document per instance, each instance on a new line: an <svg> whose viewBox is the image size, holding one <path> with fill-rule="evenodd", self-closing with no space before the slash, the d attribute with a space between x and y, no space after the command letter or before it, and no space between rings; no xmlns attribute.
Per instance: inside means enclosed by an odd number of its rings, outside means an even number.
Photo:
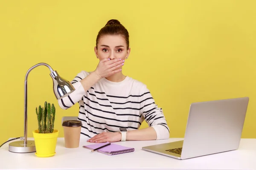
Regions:
<svg viewBox="0 0 256 170"><path fill-rule="evenodd" d="M105 142L105 143L98 143L98 144L90 144L83 146L84 148L93 150L98 147L101 147L102 145L108 144L110 142ZM114 144L111 143L110 145L106 147L102 147L101 149L97 150L97 152L104 153L106 155L116 155L116 154L121 154L121 153L128 153L128 152L133 152L134 148L132 147L125 147L119 144Z"/></svg>

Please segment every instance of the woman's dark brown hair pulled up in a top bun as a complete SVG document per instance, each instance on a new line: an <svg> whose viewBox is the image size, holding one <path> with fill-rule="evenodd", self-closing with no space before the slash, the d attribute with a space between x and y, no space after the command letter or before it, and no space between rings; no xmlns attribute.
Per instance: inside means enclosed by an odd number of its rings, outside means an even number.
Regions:
<svg viewBox="0 0 256 170"><path fill-rule="evenodd" d="M127 29L118 20L109 20L107 24L103 28L101 28L96 38L97 49L99 38L103 35L122 35L125 38L127 49L129 48L129 33Z"/></svg>

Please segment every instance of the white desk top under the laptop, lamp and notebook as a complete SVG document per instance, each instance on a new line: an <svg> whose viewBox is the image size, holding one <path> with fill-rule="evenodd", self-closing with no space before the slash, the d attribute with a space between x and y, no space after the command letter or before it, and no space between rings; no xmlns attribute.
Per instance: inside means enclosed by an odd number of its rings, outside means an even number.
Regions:
<svg viewBox="0 0 256 170"><path fill-rule="evenodd" d="M182 139L118 142L134 147L135 151L108 156L83 148L82 145L91 144L86 138L81 139L80 147L75 149L65 148L64 139L58 138L56 154L49 158L38 158L35 153L11 153L6 143L0 148L0 170L256 170L256 139L241 139L239 150L186 160L141 149L177 140Z"/></svg>

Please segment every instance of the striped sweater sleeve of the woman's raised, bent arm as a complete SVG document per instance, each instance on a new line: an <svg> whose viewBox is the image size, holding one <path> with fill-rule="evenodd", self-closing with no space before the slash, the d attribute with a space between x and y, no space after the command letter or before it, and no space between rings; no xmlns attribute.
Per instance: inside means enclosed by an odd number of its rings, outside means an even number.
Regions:
<svg viewBox="0 0 256 170"><path fill-rule="evenodd" d="M89 75L89 73L81 71L76 75L76 77L74 77L71 84L74 86L75 91L62 99L58 99L58 105L60 108L66 110L82 99L86 91L84 91L84 87L80 81L87 77L87 75Z"/></svg>

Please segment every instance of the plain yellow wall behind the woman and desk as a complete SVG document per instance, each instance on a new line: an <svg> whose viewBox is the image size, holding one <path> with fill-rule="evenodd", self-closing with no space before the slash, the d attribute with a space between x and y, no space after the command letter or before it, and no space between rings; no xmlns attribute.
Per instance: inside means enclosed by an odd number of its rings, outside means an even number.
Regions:
<svg viewBox="0 0 256 170"><path fill-rule="evenodd" d="M1 0L0 143L23 136L26 71L46 62L73 79L98 63L93 47L100 28L118 19L129 31L131 55L124 74L148 85L163 108L171 137L183 137L191 102L249 96L242 133L256 137L256 1L234 0ZM35 107L61 110L47 67L29 74L28 135L37 128ZM143 123L142 127L147 125Z"/></svg>

